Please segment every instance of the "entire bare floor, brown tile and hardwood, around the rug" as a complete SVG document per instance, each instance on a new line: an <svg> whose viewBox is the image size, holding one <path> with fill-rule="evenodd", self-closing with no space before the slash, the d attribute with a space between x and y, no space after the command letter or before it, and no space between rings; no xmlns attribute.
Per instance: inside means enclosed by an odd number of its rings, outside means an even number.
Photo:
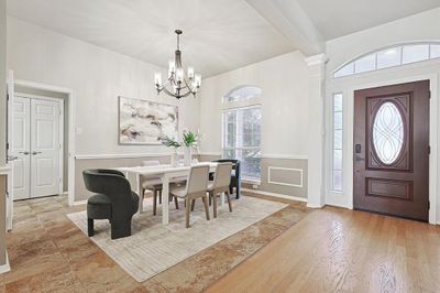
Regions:
<svg viewBox="0 0 440 293"><path fill-rule="evenodd" d="M439 226L289 203L220 242L220 254L207 249L138 283L66 217L84 206L20 202L0 292L440 292Z"/></svg>

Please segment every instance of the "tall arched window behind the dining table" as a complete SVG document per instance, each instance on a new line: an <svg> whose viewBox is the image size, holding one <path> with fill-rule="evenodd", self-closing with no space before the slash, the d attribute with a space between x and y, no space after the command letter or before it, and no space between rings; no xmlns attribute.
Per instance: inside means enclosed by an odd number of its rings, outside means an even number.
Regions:
<svg viewBox="0 0 440 293"><path fill-rule="evenodd" d="M241 161L244 180L261 178L261 106L255 102L261 89L243 87L231 91L223 99L223 145L224 159ZM235 101L246 100L243 107L232 107Z"/></svg>

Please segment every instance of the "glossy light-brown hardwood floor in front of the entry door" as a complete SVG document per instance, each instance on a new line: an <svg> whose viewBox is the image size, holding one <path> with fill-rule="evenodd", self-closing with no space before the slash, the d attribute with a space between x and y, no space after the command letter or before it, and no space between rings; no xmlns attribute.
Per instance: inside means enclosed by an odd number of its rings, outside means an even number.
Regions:
<svg viewBox="0 0 440 293"><path fill-rule="evenodd" d="M440 292L440 227L327 207L208 292Z"/></svg>

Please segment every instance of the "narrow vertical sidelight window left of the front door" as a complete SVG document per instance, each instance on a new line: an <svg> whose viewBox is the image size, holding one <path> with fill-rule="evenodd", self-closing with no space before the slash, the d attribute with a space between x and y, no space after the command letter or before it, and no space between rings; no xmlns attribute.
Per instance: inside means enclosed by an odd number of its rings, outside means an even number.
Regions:
<svg viewBox="0 0 440 293"><path fill-rule="evenodd" d="M342 191L342 94L333 95L333 162L332 184L333 191Z"/></svg>

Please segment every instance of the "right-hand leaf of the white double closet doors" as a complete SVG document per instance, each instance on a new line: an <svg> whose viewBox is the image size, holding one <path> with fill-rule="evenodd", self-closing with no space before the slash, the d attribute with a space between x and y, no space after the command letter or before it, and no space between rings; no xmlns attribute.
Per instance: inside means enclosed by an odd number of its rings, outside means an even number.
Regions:
<svg viewBox="0 0 440 293"><path fill-rule="evenodd" d="M59 102L31 99L31 197L59 193Z"/></svg>

